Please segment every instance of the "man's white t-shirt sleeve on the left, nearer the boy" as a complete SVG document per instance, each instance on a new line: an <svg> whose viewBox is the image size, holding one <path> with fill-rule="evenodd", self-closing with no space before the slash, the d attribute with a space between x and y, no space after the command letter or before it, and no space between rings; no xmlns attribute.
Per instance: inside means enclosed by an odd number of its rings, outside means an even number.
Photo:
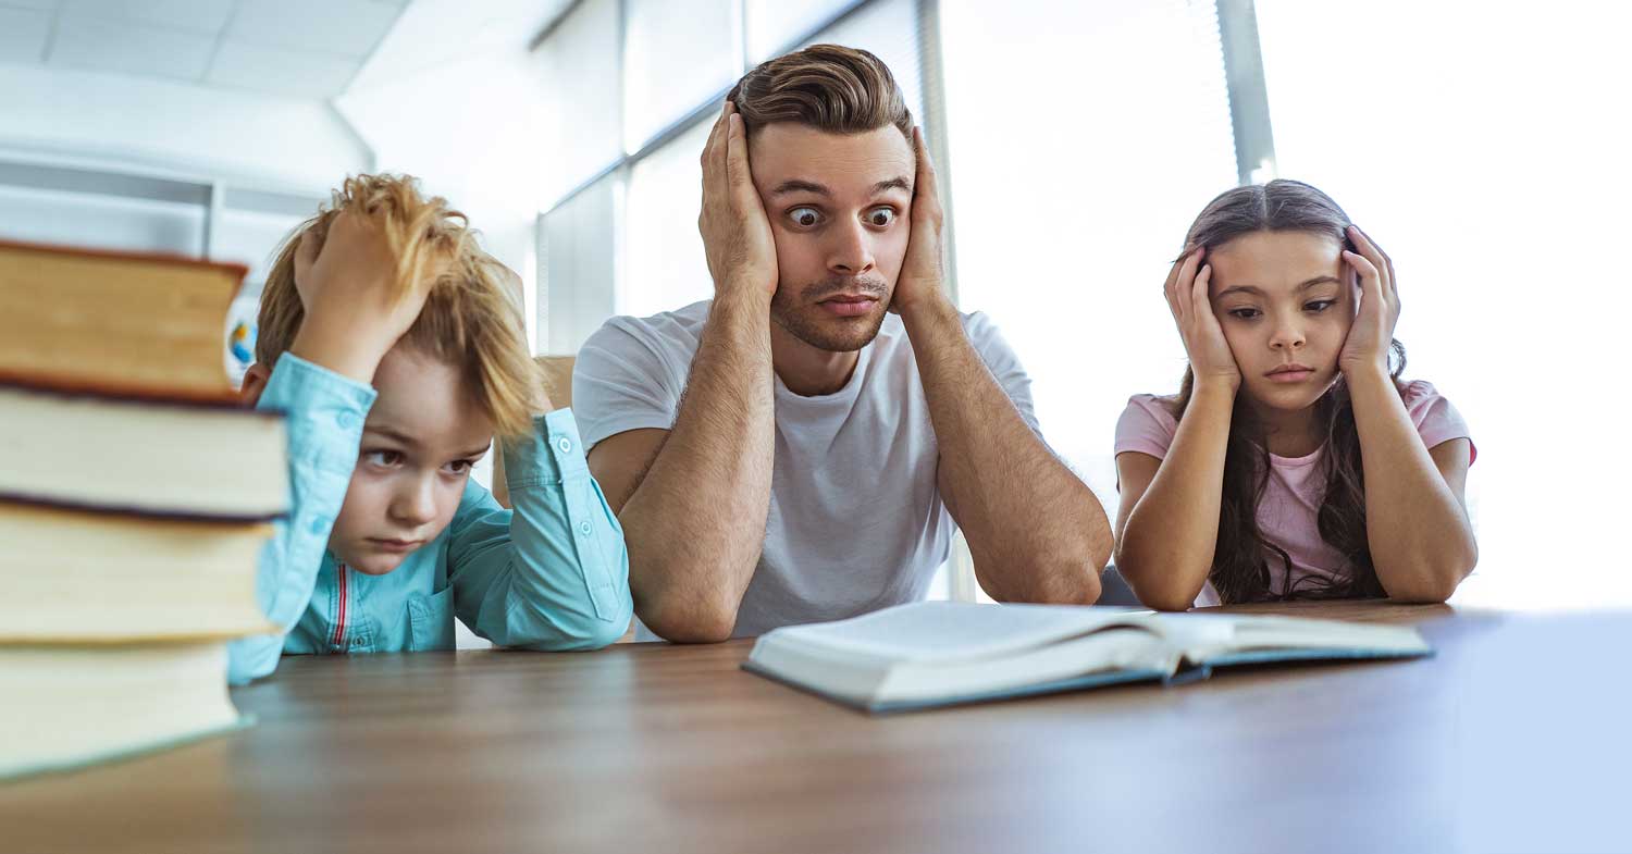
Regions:
<svg viewBox="0 0 1632 854"><path fill-rule="evenodd" d="M573 364L573 416L584 447L630 429L669 429L690 361L641 322L614 317L584 341Z"/></svg>

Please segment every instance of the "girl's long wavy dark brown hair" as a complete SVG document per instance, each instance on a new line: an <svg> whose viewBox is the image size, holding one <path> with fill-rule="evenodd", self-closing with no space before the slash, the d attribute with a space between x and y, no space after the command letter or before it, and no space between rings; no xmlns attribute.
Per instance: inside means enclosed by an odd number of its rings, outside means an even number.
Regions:
<svg viewBox="0 0 1632 854"><path fill-rule="evenodd" d="M1348 214L1325 193L1301 181L1270 181L1239 186L1222 193L1201 211L1185 251L1213 250L1252 232L1307 232L1330 237L1353 250L1348 242ZM1389 376L1395 389L1404 389L1405 346L1390 341ZM1185 380L1173 402L1173 416L1182 418L1190 405L1195 376L1185 369ZM1229 444L1224 452L1224 491L1219 505L1219 537L1213 552L1208 580L1224 604L1265 599L1327 599L1384 596L1377 570L1371 563L1366 540L1366 477L1359 460L1359 433L1355 429L1355 407L1348 385L1338 380L1315 407L1315 425L1324 436L1322 465L1327 474L1325 498L1317 527L1320 539L1342 552L1350 563L1343 578L1306 576L1293 583L1293 558L1284 549L1263 537L1258 529L1258 500L1270 482L1270 447L1263 426L1252 413L1244 394L1235 395L1231 415ZM1271 589L1270 560L1286 567L1286 585Z"/></svg>

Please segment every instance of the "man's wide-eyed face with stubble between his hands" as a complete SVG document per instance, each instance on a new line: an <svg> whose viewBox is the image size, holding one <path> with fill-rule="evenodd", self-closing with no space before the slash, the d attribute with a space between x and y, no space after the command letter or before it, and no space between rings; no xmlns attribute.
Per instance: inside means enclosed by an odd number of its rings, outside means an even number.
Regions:
<svg viewBox="0 0 1632 854"><path fill-rule="evenodd" d="M893 126L840 136L774 122L754 131L749 162L777 242L770 318L814 348L862 349L907 251L912 147Z"/></svg>

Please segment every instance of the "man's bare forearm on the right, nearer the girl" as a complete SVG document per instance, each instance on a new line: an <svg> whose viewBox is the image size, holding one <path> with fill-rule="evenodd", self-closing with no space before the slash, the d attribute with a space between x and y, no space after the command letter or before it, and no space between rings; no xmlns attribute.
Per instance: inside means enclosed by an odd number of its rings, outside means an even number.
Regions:
<svg viewBox="0 0 1632 854"><path fill-rule="evenodd" d="M902 322L940 446L940 483L981 586L1004 601L1093 603L1111 552L1098 498L1031 433L950 302L914 305Z"/></svg>

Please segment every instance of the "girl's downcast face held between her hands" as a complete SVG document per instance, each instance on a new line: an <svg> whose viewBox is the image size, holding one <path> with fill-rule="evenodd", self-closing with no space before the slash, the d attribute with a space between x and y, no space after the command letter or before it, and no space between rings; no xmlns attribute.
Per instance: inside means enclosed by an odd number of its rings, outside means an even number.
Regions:
<svg viewBox="0 0 1632 854"><path fill-rule="evenodd" d="M1304 410L1337 382L1356 305L1342 248L1312 232L1253 232L1208 250L1213 312L1260 408Z"/></svg>

